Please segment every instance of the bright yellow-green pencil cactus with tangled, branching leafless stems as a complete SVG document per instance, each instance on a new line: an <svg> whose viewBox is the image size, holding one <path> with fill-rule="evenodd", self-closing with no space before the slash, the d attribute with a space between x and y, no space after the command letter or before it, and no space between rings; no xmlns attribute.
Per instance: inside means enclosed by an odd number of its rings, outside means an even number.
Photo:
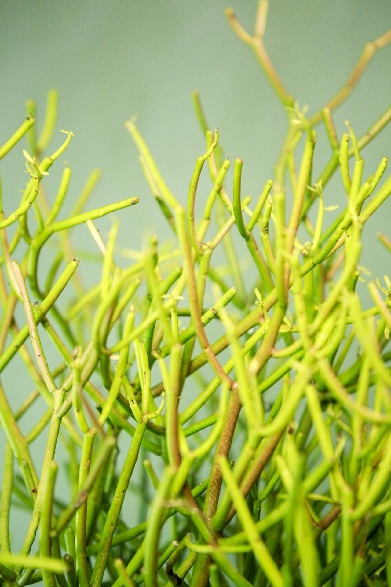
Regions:
<svg viewBox="0 0 391 587"><path fill-rule="evenodd" d="M387 158L366 178L362 150L389 122L391 108L360 139L349 125L337 133L332 119L391 33L366 45L342 90L307 117L267 55L267 1L259 2L254 35L231 10L226 14L288 117L274 176L252 204L240 190L243 161L234 161L230 177L230 160L196 93L206 147L191 177L187 214L134 121L125 123L177 242L164 253L152 237L132 264L115 242L123 214L132 213L125 209L138 198L84 211L95 170L72 214L58 220L70 168L54 198L43 189L50 167L72 148L66 132L62 146L43 157L56 92L49 93L38 140L28 102L28 118L0 149L0 158L22 149L26 136L30 176L18 207L3 198L0 220L0 371L17 377L19 354L31 379L30 390L17 389L16 411L9 405L15 391L0 386L4 585L391 584L391 283L387 276L371 281L359 269L363 225L391 193L391 177L382 178ZM312 178L318 124L331 156ZM206 168L208 197L197 190ZM334 173L346 202L327 224ZM200 220L196 198L204 206ZM114 211L119 222L102 237L94 221ZM101 254L101 280L92 287L83 285L73 258L71 230L79 224ZM37 268L55 239L57 254L41 283ZM249 249L251 284L244 285L235 239ZM216 249L227 255L229 275L216 265ZM369 308L356 294L358 279L367 282ZM57 366L46 360L50 344ZM23 435L18 420L39 397L47 408ZM38 437L46 439L45 453L32 458ZM66 501L56 485L60 443ZM132 477L138 461L142 485ZM124 505L130 491L132 505ZM9 515L22 506L30 521L15 552ZM130 507L144 517L137 525Z"/></svg>

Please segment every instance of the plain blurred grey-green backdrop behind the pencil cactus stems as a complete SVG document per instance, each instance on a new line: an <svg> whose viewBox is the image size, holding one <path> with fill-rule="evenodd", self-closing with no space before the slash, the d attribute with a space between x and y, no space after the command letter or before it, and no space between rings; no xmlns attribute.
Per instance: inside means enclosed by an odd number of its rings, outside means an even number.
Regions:
<svg viewBox="0 0 391 587"><path fill-rule="evenodd" d="M389 6L389 0L271 0L266 46L300 107L308 104L309 113L314 113L344 85L365 43L390 28ZM67 161L72 180L60 218L66 218L90 171L99 167L101 180L87 209L131 196L140 198L137 206L121 214L119 245L140 249L154 233L162 240L172 238L145 184L137 151L123 123L137 115L137 126L166 183L185 204L196 157L205 151L192 109L192 90L200 93L210 127L219 127L226 156L243 158L243 194L258 197L266 180L273 177L286 116L251 50L227 23L225 7L226 0L2 0L0 143L21 124L26 99L36 101L40 129L47 90L59 90L58 131L49 151L56 150L64 139L59 129L72 130L74 139L50 170L45 185L53 201L63 161ZM232 8L252 33L256 0L236 0ZM361 136L390 105L390 63L391 45L376 53L355 92L334 113L339 137L346 130L345 119ZM19 202L19 190L25 186L25 148L22 140L0 164L6 212ZM330 154L320 125L314 176ZM391 125L363 150L365 176L376 170L383 156L390 155ZM207 171L205 174L208 176ZM232 169L227 185L231 181ZM208 181L205 185L209 186ZM324 199L325 205L345 204L337 174ZM390 213L391 198L364 229L362 264L380 278L389 273L390 257L376 231L391 237ZM105 237L111 218L98 220L96 225ZM79 247L96 251L86 227L77 228L74 239ZM17 254L20 261L19 257ZM87 281L98 279L93 264L83 263L80 270ZM17 361L15 357L16 366ZM31 383L23 367L15 376L15 365L2 373L1 380L16 408L25 386L29 392ZM26 426L30 429L31 423ZM0 434L0 460L3 442ZM40 440L36 446L41 446ZM39 448L34 460L40 470ZM26 518L20 537L15 521L13 518L13 546L18 549Z"/></svg>

